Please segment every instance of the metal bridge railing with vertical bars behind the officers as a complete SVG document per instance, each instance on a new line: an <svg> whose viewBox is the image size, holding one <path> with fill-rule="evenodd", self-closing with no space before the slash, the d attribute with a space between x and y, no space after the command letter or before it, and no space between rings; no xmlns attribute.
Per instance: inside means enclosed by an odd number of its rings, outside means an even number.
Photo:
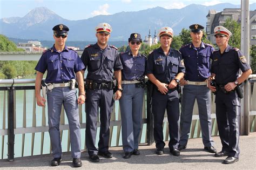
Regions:
<svg viewBox="0 0 256 170"><path fill-rule="evenodd" d="M250 78L256 78L256 74ZM250 80L253 86L254 80ZM16 86L17 85L17 86ZM215 96L212 96L212 135L218 135L215 119ZM142 132L140 144L151 145L153 143L153 118L149 108L146 90L143 103ZM256 132L256 86L250 88L250 131ZM0 159L29 155L51 153L51 145L48 131L47 106L39 107L35 99L35 79L4 79L0 80ZM85 146L85 111L84 105L79 105L79 119L82 134L82 149ZM195 103L191 125L190 138L201 137L201 127L198 116L198 107ZM99 133L99 118L97 123L97 137ZM169 140L168 121L165 114L163 122L164 139ZM115 102L110 122L110 146L122 146L121 117L118 101ZM46 132L46 133L45 133ZM64 114L64 108L60 115L60 137L62 139L63 152L70 151L69 125ZM97 143L98 139L96 139ZM7 144L7 145L6 145Z"/></svg>

